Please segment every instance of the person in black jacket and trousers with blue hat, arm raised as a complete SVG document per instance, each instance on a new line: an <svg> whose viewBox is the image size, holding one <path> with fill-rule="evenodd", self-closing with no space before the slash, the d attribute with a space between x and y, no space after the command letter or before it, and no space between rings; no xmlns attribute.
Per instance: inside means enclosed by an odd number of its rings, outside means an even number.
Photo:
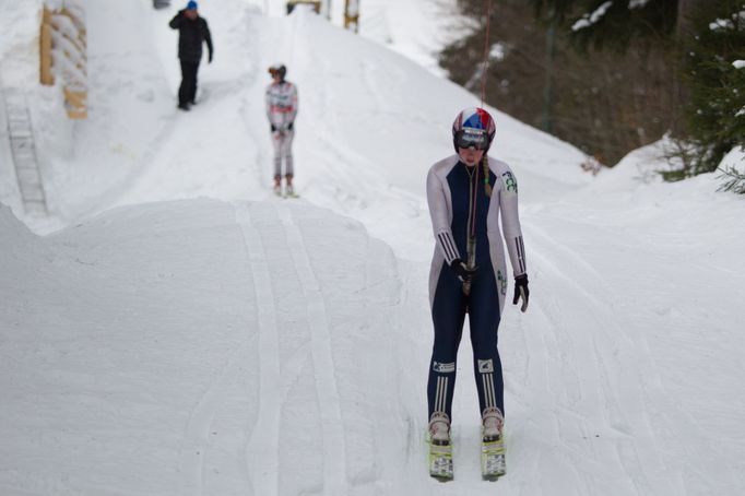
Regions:
<svg viewBox="0 0 745 496"><path fill-rule="evenodd" d="M178 29L178 58L181 61L181 86L178 88L178 108L188 110L197 97L197 72L202 59L202 44L206 43L208 62L212 62L214 48L204 17L199 15L197 2L191 0L178 11L168 25Z"/></svg>

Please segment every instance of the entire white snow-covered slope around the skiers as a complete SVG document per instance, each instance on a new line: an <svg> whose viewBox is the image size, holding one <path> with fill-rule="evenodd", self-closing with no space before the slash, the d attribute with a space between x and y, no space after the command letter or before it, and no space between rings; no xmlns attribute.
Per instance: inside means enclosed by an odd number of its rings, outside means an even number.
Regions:
<svg viewBox="0 0 745 496"><path fill-rule="evenodd" d="M424 179L477 102L314 15L203 0L215 60L180 114L180 5L83 3L90 118L52 126L58 88L19 49L38 2L2 2L0 82L26 88L52 215L23 215L0 135L0 494L745 492L745 203L714 177L648 180L645 149L593 180L494 111L531 281L500 324L508 474L481 481L464 339L440 484ZM300 92L296 201L269 192L277 60Z"/></svg>

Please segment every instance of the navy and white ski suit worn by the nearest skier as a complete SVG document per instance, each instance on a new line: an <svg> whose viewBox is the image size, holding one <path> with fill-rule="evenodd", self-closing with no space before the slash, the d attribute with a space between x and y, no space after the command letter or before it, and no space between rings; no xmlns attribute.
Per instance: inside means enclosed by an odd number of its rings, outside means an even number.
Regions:
<svg viewBox="0 0 745 496"><path fill-rule="evenodd" d="M488 169L490 197L486 194L483 166L468 167L458 155L436 163L427 175L427 202L436 239L429 272L429 304L435 324L427 385L430 418L434 412L451 417L456 359L466 312L481 412L490 406L505 412L497 330L507 293L507 270L499 224L515 276L525 273L525 250L515 176L507 164L492 157ZM449 264L457 258L468 260L472 219L478 269L466 296Z"/></svg>

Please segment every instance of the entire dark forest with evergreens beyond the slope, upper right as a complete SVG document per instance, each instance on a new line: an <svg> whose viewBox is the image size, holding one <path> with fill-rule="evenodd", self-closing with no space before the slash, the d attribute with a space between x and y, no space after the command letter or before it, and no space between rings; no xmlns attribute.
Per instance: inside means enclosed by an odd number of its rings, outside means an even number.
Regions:
<svg viewBox="0 0 745 496"><path fill-rule="evenodd" d="M458 1L466 34L440 55L475 94L488 3ZM486 102L604 165L670 133L681 179L745 144L743 0L490 0L488 32Z"/></svg>

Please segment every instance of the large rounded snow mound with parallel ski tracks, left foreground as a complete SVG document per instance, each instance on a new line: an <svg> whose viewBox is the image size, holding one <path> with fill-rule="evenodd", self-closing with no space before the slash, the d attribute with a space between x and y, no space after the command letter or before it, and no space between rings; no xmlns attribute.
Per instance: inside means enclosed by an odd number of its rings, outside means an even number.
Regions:
<svg viewBox="0 0 745 496"><path fill-rule="evenodd" d="M0 233L3 494L354 494L399 470L379 436L405 440L381 387L401 374L399 279L358 223L192 200L109 212L49 252L5 208Z"/></svg>

